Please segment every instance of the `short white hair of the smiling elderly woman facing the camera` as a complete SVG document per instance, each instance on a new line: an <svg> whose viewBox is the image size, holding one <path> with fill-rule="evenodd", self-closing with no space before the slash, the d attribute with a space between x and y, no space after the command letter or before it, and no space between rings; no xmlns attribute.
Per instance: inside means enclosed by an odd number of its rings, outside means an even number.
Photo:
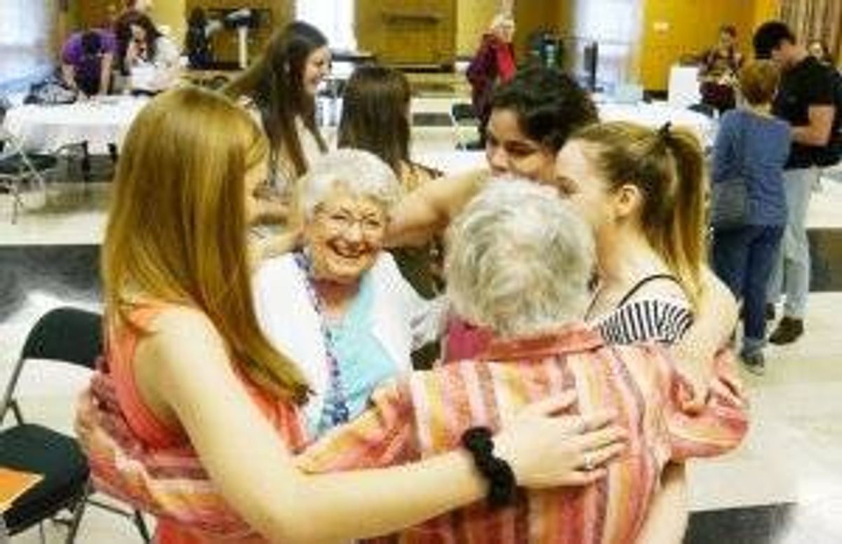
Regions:
<svg viewBox="0 0 842 544"><path fill-rule="evenodd" d="M306 219L335 189L354 197L370 198L381 204L386 214L401 198L401 184L392 168L379 157L357 149L330 151L313 161L299 182L301 211Z"/></svg>

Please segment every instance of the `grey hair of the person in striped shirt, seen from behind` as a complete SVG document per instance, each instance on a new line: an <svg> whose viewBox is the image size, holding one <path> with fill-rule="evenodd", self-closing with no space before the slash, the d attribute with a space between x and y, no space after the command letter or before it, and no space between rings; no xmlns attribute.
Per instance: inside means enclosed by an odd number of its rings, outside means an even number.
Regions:
<svg viewBox="0 0 842 544"><path fill-rule="evenodd" d="M448 231L456 312L502 336L582 320L594 271L591 230L551 187L496 180Z"/></svg>

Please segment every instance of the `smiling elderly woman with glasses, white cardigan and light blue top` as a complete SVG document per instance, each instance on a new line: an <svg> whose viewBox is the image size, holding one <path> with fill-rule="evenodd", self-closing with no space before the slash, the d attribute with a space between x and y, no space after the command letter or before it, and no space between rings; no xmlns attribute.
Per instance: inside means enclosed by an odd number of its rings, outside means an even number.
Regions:
<svg viewBox="0 0 842 544"><path fill-rule="evenodd" d="M439 304L419 297L381 251L401 191L386 163L334 151L301 186L303 250L260 267L255 306L315 393L305 414L317 436L365 409L377 383L410 370L413 348L439 333Z"/></svg>

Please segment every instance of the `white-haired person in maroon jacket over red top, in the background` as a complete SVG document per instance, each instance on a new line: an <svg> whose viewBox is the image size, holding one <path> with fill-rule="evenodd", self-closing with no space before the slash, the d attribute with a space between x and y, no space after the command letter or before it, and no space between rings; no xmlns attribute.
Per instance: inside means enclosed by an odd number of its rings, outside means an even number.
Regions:
<svg viewBox="0 0 842 544"><path fill-rule="evenodd" d="M482 34L479 50L468 66L466 76L471 83L471 101L479 119L479 147L485 145L485 128L491 115L494 89L508 82L517 70L514 61L514 18L499 13L491 22L488 34Z"/></svg>

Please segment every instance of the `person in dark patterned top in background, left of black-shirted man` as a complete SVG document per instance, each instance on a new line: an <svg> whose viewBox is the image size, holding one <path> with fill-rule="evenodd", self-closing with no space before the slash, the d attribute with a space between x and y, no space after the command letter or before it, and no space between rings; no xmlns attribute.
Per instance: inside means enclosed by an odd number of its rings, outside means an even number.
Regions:
<svg viewBox="0 0 842 544"><path fill-rule="evenodd" d="M740 66L743 54L737 50L737 29L725 24L719 29L719 43L701 57L701 103L716 108L719 114L733 109L737 105L734 86Z"/></svg>

